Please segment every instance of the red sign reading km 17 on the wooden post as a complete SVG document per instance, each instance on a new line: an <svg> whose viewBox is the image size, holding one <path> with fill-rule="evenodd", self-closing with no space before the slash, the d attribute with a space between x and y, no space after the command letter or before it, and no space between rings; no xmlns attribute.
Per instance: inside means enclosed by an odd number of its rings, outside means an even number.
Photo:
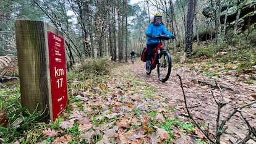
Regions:
<svg viewBox="0 0 256 144"><path fill-rule="evenodd" d="M67 105L67 72L65 41L59 35L48 32L49 67L51 74L51 100L53 121Z"/></svg>

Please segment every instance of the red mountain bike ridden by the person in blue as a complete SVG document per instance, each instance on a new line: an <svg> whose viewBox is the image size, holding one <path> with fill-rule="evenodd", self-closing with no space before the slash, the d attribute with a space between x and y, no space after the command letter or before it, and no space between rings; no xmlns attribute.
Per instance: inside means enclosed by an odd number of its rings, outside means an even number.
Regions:
<svg viewBox="0 0 256 144"><path fill-rule="evenodd" d="M159 35L155 36L155 38L159 38L160 43L153 49L154 56L150 61L150 67L147 75L150 75L151 70L155 69L157 65L158 78L164 83L168 80L171 74L171 54L164 49L162 40L169 40L171 37L169 35Z"/></svg>

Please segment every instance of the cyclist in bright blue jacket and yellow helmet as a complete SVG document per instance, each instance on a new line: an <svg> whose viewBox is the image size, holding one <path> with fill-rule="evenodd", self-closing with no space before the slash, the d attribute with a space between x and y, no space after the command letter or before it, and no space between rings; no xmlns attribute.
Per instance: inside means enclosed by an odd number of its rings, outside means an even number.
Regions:
<svg viewBox="0 0 256 144"><path fill-rule="evenodd" d="M146 70L149 71L150 67L150 60L153 58L153 49L156 48L158 43L160 43L160 39L156 36L159 36L161 34L169 35L171 38L175 38L173 33L168 32L166 30L163 21L162 21L162 14L157 13L154 16L153 22L150 22L148 25L146 35L147 35L147 48L148 48L148 56L147 56L147 62L146 62Z"/></svg>

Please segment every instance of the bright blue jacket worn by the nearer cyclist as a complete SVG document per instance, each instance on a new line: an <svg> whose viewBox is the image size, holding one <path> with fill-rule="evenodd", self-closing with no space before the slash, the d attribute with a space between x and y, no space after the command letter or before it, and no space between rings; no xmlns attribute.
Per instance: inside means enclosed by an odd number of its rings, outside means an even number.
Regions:
<svg viewBox="0 0 256 144"><path fill-rule="evenodd" d="M153 36L164 34L164 35L170 35L171 37L174 37L173 33L170 33L168 32L168 30L166 30L163 23L160 23L160 25L155 25L155 23L150 23L146 31L146 35L148 34ZM153 44L153 43L160 43L160 40L158 38L148 37L147 44Z"/></svg>

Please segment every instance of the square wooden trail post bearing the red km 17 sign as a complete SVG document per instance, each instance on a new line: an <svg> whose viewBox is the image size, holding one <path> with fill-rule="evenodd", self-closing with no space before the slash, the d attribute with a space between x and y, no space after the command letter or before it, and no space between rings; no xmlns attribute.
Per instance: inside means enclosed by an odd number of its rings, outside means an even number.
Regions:
<svg viewBox="0 0 256 144"><path fill-rule="evenodd" d="M15 35L22 106L45 111L41 121L55 121L67 105L63 33L45 22L16 20Z"/></svg>

